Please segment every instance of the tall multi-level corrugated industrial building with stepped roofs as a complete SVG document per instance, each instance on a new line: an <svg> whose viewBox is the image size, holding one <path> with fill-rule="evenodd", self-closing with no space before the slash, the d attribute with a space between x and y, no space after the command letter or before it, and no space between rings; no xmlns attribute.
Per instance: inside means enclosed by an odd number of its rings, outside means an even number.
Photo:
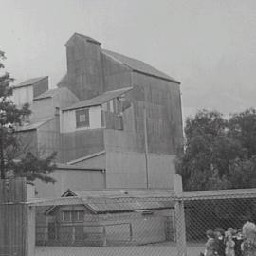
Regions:
<svg viewBox="0 0 256 256"><path fill-rule="evenodd" d="M65 46L67 71L56 88L41 77L13 90L13 101L32 110L19 135L33 151L58 153L57 182L37 181L38 196L172 189L183 142L180 82L79 33Z"/></svg>

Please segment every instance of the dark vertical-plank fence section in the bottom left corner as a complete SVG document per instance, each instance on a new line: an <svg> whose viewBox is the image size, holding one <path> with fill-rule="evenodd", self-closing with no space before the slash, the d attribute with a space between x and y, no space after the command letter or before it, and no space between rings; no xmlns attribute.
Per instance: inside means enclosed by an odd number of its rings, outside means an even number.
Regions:
<svg viewBox="0 0 256 256"><path fill-rule="evenodd" d="M27 184L25 178L0 180L0 250L27 256Z"/></svg>

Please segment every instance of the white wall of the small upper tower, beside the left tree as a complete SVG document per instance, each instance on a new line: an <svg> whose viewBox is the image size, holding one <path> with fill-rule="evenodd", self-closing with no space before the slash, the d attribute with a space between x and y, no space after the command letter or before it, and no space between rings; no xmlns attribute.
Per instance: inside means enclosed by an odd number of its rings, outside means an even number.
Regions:
<svg viewBox="0 0 256 256"><path fill-rule="evenodd" d="M33 86L24 86L19 87L13 90L13 95L11 100L16 105L23 105L24 103L32 103L33 102Z"/></svg>

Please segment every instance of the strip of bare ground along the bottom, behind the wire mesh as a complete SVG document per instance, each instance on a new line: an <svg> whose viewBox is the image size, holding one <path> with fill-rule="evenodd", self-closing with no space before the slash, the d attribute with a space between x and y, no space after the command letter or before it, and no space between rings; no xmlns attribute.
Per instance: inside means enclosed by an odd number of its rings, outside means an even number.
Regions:
<svg viewBox="0 0 256 256"><path fill-rule="evenodd" d="M187 245L188 256L198 256L203 245ZM36 247L35 256L176 256L173 244L133 247Z"/></svg>

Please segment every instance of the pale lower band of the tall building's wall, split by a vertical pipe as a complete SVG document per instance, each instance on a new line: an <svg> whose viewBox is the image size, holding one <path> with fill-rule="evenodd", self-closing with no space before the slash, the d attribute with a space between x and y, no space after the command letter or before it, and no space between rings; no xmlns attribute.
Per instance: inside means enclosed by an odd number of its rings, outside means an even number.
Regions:
<svg viewBox="0 0 256 256"><path fill-rule="evenodd" d="M174 155L146 155L138 152L106 153L106 186L113 188L174 188Z"/></svg>

